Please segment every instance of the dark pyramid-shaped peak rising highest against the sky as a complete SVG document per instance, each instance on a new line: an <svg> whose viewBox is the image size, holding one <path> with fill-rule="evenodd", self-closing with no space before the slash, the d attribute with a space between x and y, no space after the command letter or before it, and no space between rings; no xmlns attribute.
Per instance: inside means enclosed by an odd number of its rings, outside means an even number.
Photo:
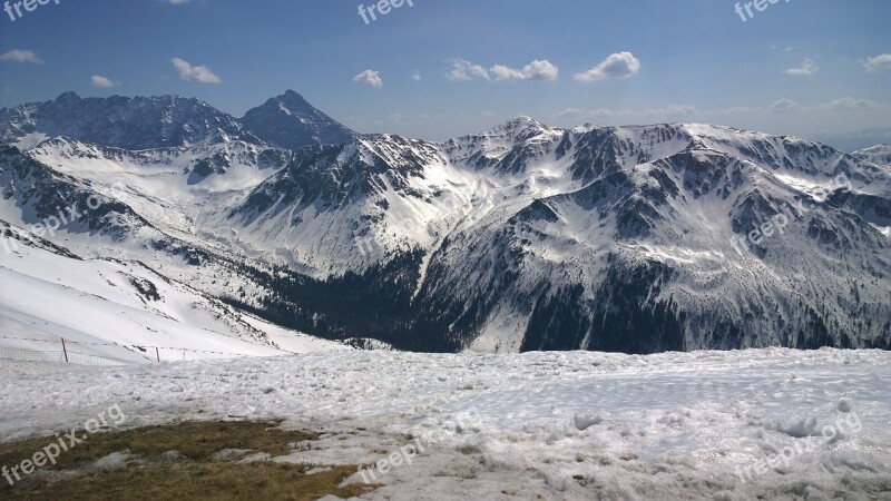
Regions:
<svg viewBox="0 0 891 501"><path fill-rule="evenodd" d="M358 136L293 90L247 111L241 122L264 141L287 149L347 143Z"/></svg>

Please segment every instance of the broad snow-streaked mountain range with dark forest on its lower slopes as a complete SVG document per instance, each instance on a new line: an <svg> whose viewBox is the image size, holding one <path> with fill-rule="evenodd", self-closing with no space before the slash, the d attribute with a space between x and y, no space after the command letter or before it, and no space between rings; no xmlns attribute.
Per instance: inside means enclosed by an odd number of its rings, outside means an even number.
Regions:
<svg viewBox="0 0 891 501"><path fill-rule="evenodd" d="M305 102L287 97L267 115ZM796 137L520 117L444 143L296 150L59 138L7 148L0 168L11 224L87 196L69 186L92 190L108 213L53 244L126 252L320 336L430 351L891 348L891 167ZM59 187L25 189L38 171ZM40 202L47 191L58 199Z"/></svg>

